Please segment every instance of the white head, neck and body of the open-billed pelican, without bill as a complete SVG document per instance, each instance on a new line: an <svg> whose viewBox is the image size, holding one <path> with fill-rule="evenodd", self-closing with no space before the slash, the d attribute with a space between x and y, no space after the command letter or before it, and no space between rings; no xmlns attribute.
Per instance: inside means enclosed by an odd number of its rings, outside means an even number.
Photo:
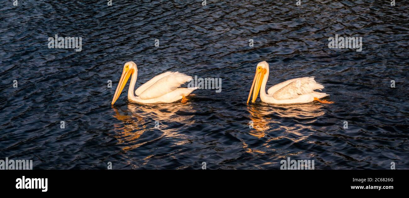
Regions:
<svg viewBox="0 0 409 198"><path fill-rule="evenodd" d="M315 82L314 77L303 77L290 79L282 83L276 84L267 90L265 86L268 80L269 65L263 61L258 63L267 70L263 77L260 89L260 99L265 103L273 104L293 104L293 103L309 103L314 101L314 98L323 98L329 96L326 93L315 92L314 90L322 90L324 88L320 83Z"/></svg>

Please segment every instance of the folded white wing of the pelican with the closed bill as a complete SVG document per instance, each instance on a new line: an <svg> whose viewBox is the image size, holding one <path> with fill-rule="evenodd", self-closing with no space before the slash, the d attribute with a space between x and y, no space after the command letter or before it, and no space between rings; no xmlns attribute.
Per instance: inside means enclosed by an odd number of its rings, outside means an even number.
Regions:
<svg viewBox="0 0 409 198"><path fill-rule="evenodd" d="M166 72L166 73L168 73L168 72ZM161 76L161 75L159 75L159 76ZM158 77L158 76L155 76L155 78L156 77ZM164 94L167 94L167 93L177 89L183 83L186 83L186 82L191 81L191 80L192 80L192 77L187 76L186 74L181 74L179 72L169 72L169 74L164 75L162 78L155 81L151 86L146 88L142 93L139 94L139 97L141 99L143 99L143 100L161 97Z"/></svg>

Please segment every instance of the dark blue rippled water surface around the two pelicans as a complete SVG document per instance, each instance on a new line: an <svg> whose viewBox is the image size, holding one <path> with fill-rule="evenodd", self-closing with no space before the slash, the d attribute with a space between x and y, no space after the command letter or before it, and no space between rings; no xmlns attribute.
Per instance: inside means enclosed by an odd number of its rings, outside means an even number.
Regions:
<svg viewBox="0 0 409 198"><path fill-rule="evenodd" d="M0 157L34 169L279 169L287 157L315 169L408 169L407 3L301 2L3 1ZM55 34L81 36L82 51L49 49ZM329 49L335 34L362 36L362 52ZM158 105L123 93L111 106L127 61L137 87L179 71L221 78L222 92ZM315 76L335 104L247 106L260 61L267 87Z"/></svg>

